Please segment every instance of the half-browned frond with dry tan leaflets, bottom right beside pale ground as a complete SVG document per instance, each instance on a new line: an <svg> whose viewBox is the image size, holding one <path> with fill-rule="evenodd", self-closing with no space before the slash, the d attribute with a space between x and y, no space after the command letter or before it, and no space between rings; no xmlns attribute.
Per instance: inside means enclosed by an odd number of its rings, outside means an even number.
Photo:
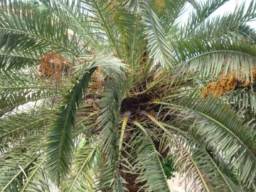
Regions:
<svg viewBox="0 0 256 192"><path fill-rule="evenodd" d="M188 191L243 191L220 170L205 146L198 146L186 137L176 139L170 144L173 150L169 155L174 156L179 174L186 177L183 182Z"/></svg>

